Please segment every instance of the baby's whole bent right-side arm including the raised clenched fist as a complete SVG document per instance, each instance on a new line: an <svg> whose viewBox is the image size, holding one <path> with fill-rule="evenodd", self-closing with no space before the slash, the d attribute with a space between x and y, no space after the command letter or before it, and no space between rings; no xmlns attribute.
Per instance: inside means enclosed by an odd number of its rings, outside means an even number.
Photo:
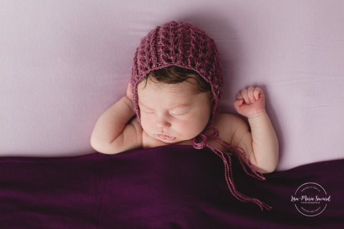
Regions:
<svg viewBox="0 0 344 229"><path fill-rule="evenodd" d="M249 161L262 172L272 172L278 164L278 141L275 130L265 111L265 95L262 89L249 87L237 94L234 106L237 112L248 118L246 125L238 126L234 139L243 148Z"/></svg>

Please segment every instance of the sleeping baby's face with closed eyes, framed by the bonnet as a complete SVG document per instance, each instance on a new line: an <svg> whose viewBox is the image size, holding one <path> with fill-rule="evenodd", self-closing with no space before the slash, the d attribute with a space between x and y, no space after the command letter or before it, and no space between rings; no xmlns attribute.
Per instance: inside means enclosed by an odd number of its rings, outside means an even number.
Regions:
<svg viewBox="0 0 344 229"><path fill-rule="evenodd" d="M195 93L189 82L138 84L141 126L150 137L167 144L190 140L200 134L210 118L208 93Z"/></svg>

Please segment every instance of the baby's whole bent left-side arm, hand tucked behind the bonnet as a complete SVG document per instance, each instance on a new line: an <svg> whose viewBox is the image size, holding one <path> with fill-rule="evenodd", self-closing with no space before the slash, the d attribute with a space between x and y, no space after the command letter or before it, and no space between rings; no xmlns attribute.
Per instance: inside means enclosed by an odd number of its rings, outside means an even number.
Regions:
<svg viewBox="0 0 344 229"><path fill-rule="evenodd" d="M142 146L142 130L135 115L131 85L127 95L98 119L91 135L92 147L100 153L116 154Z"/></svg>

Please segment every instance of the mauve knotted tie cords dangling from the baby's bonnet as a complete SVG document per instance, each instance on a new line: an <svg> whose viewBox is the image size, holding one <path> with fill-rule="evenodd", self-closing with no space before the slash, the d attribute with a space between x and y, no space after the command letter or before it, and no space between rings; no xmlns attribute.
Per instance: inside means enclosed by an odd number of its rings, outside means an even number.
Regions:
<svg viewBox="0 0 344 229"><path fill-rule="evenodd" d="M262 175L262 173L260 171L258 171L257 168L255 168L252 164L249 163L246 154L244 153L244 151L240 148L240 147L235 147L235 146L231 146L230 144L228 144L227 142L223 141L219 136L218 136L218 130L215 126L210 126L210 129L214 130L214 133L211 135L208 134L203 134L201 133L200 135L196 136L193 139L193 147L195 149L203 149L203 148L209 148L211 151L213 151L218 157L220 157L223 161L224 167L225 167L225 178L226 178L226 182L227 182L227 186L230 190L230 192L232 193L232 195L234 197L236 197L237 199L239 199L242 202L254 202L256 203L261 211L263 211L264 209L266 210L271 210L272 207L269 206L267 203L260 201L257 198L254 197L249 197L246 195L241 194L235 187L234 181L233 181L233 174L232 174L232 159L229 153L225 153L222 152L221 150L217 149L216 147L210 145L207 140L208 138L210 139L214 139L216 142L218 142L219 144L221 144L223 147L225 147L228 150L240 153L243 158L245 159L247 165L250 170L253 172L253 174L249 173L246 169L245 164L242 162L241 157L239 158L240 164L243 167L244 171L246 174L255 177L259 180L265 180L264 176Z"/></svg>

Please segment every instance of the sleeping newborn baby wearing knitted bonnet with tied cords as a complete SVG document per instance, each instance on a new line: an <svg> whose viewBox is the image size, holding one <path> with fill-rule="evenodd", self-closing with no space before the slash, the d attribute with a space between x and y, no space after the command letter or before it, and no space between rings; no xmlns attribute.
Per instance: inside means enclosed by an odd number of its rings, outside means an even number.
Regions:
<svg viewBox="0 0 344 229"><path fill-rule="evenodd" d="M231 168L236 156L247 174L264 180L262 173L277 166L278 141L264 92L249 87L236 95L235 109L248 127L237 115L219 113L222 90L214 40L189 23L159 26L141 40L126 96L98 119L92 147L105 154L171 144L209 148L223 160L232 195L270 209L236 189Z"/></svg>

